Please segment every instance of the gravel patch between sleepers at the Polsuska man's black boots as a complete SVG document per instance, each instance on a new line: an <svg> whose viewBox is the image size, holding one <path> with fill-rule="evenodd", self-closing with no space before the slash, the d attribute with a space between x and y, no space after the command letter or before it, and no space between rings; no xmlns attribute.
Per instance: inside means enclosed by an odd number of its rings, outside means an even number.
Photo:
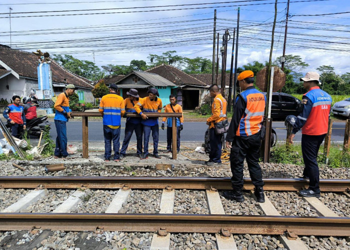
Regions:
<svg viewBox="0 0 350 250"><path fill-rule="evenodd" d="M243 192L244 201L236 202L234 200L226 199L222 196L222 191L219 192L221 203L225 214L234 215L262 215L263 211L260 209L255 199L248 193Z"/></svg>

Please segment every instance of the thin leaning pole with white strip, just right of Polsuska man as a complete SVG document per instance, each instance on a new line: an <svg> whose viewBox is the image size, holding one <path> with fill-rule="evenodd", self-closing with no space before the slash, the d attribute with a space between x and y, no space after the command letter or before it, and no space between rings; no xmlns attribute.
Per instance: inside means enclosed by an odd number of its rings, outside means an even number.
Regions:
<svg viewBox="0 0 350 250"><path fill-rule="evenodd" d="M273 37L274 37L274 28L276 26L276 17L277 17L277 0L274 2L274 19L273 19L273 26L272 26L272 35L271 35L271 48L270 48L270 56L268 60L268 67L267 67L267 105L265 106L265 142L264 142L264 150L263 150L263 162L269 162L270 159L270 141L271 141L271 125L272 125L272 119L271 119L271 98L272 98L272 89L273 89L273 72L274 70L271 70L271 60L272 60L272 50L273 50Z"/></svg>

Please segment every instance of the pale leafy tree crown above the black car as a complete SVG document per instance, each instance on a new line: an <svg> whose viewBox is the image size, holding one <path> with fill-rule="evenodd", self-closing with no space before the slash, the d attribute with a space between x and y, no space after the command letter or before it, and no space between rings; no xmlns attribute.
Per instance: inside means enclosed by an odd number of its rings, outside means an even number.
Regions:
<svg viewBox="0 0 350 250"><path fill-rule="evenodd" d="M274 61L274 65L280 65L280 57L278 56ZM290 70L290 74L293 76L294 82L299 82L300 77L302 77L302 71L308 67L308 64L304 62L299 55L286 54L284 68Z"/></svg>

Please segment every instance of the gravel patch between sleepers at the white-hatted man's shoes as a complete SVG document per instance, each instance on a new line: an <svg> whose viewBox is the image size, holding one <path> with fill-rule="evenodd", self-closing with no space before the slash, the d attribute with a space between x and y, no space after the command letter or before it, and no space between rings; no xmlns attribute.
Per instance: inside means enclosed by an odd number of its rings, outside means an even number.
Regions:
<svg viewBox="0 0 350 250"><path fill-rule="evenodd" d="M265 191L265 195L281 215L320 216L297 192Z"/></svg>

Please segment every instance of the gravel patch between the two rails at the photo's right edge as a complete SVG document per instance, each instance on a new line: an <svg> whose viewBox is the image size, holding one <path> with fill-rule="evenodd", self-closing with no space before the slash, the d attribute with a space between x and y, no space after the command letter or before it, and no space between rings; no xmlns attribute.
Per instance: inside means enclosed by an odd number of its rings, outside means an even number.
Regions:
<svg viewBox="0 0 350 250"><path fill-rule="evenodd" d="M350 198L345 194L321 192L319 199L337 215L350 217Z"/></svg>

